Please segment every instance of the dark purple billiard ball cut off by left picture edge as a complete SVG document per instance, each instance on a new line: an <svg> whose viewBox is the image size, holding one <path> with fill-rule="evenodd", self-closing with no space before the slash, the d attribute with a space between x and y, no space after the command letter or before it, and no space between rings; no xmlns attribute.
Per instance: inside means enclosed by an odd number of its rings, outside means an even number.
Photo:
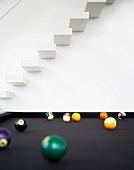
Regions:
<svg viewBox="0 0 134 170"><path fill-rule="evenodd" d="M5 149L11 142L11 133L5 128L0 128L0 149Z"/></svg>

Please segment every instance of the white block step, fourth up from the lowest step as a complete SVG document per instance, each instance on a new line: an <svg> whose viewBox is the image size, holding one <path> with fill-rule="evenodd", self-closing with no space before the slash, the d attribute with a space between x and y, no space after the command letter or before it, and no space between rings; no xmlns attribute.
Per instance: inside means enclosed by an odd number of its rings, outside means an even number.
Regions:
<svg viewBox="0 0 134 170"><path fill-rule="evenodd" d="M38 45L38 53L40 58L56 58L56 45L40 44Z"/></svg>

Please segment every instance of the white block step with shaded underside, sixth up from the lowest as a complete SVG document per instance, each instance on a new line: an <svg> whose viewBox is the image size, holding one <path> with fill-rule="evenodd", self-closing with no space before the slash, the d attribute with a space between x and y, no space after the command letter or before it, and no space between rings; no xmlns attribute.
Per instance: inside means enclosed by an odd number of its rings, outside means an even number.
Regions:
<svg viewBox="0 0 134 170"><path fill-rule="evenodd" d="M89 20L89 12L76 14L70 18L69 27L72 31L84 31Z"/></svg>

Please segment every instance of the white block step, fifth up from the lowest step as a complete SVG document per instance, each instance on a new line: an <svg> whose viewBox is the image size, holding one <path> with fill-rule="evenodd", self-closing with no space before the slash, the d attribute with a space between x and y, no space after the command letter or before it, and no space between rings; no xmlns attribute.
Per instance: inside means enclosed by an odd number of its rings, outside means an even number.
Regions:
<svg viewBox="0 0 134 170"><path fill-rule="evenodd" d="M72 28L59 29L54 33L56 45L69 45L72 37Z"/></svg>

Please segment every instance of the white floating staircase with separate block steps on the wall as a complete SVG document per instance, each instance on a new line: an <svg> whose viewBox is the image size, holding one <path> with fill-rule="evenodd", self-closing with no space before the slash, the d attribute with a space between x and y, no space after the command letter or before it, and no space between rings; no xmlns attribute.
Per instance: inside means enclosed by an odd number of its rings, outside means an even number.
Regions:
<svg viewBox="0 0 134 170"><path fill-rule="evenodd" d="M73 32L83 32L89 19L98 18L104 6L113 3L114 0L88 0L84 12L71 16L67 28L59 28L59 30L55 31L53 44L38 45L37 52L39 59L21 60L20 67L26 72L41 72L40 59L55 59L56 46L70 45ZM6 75L5 83L13 86L26 86L28 85L28 80L23 75ZM11 99L13 96L14 92L8 90L6 87L0 90L1 99Z"/></svg>

